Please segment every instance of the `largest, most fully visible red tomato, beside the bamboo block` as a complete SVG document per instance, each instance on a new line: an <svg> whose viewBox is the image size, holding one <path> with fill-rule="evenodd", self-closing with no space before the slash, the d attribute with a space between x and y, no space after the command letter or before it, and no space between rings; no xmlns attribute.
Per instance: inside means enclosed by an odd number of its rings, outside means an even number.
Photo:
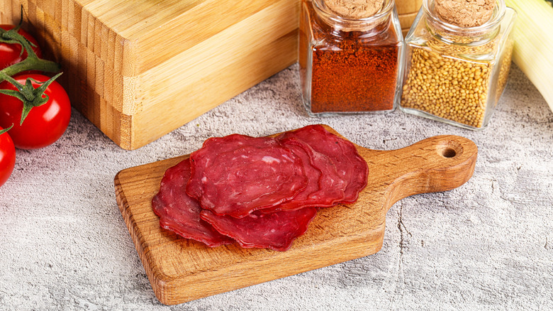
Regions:
<svg viewBox="0 0 553 311"><path fill-rule="evenodd" d="M38 82L50 79L38 74L16 75L13 79L25 84L28 77ZM33 82L33 87L38 86ZM16 87L4 81L0 83L0 89L16 89ZM0 126L8 128L13 124L9 134L17 148L36 149L49 146L67 129L71 119L71 104L65 89L54 81L46 88L45 94L49 97L48 102L31 109L23 125L19 125L23 103L16 97L0 94Z"/></svg>

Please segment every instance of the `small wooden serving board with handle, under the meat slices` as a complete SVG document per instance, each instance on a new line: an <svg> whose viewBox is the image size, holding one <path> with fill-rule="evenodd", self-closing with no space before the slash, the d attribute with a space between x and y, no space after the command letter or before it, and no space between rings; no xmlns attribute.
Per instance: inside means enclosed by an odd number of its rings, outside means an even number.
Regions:
<svg viewBox="0 0 553 311"><path fill-rule="evenodd" d="M238 245L211 249L160 227L150 201L165 170L188 155L121 170L117 202L156 297L174 305L376 253L395 202L463 185L477 155L476 145L459 136L434 136L393 151L357 150L369 165L359 200L320 209L306 234L284 252Z"/></svg>

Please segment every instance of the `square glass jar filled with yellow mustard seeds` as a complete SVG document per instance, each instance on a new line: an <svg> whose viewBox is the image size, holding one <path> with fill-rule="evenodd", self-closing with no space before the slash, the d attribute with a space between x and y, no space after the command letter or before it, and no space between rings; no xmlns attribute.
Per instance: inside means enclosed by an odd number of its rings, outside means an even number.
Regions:
<svg viewBox="0 0 553 311"><path fill-rule="evenodd" d="M423 2L406 36L400 109L484 129L507 83L516 13L504 0L457 1L457 11L455 2Z"/></svg>

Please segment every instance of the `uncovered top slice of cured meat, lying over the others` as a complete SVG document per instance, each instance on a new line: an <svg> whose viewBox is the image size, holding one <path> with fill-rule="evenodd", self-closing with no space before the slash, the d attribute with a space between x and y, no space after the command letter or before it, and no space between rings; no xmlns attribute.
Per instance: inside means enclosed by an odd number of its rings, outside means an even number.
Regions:
<svg viewBox="0 0 553 311"><path fill-rule="evenodd" d="M301 158L275 138L210 138L190 159L186 192L218 215L240 218L274 207L308 182Z"/></svg>

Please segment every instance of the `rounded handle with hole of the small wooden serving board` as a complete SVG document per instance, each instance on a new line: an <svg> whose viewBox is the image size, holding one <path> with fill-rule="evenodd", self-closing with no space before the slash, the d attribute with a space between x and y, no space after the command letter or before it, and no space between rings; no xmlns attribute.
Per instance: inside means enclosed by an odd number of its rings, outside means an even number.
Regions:
<svg viewBox="0 0 553 311"><path fill-rule="evenodd" d="M364 158L369 163L369 178L386 176L380 190L386 198L387 211L404 197L452 190L463 185L474 173L477 155L478 148L473 141L443 135L393 151L369 152ZM379 158L388 163L381 163Z"/></svg>

